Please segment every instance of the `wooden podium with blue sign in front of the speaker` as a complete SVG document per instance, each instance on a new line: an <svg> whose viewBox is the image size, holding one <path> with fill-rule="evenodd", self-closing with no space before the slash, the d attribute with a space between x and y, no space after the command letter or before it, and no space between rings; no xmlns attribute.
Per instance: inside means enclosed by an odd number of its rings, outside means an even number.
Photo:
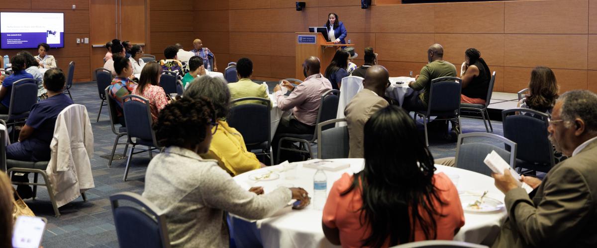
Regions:
<svg viewBox="0 0 597 248"><path fill-rule="evenodd" d="M321 61L321 74L325 74L336 50L341 46L354 46L354 44L334 44L327 42L321 33L297 32L296 33L296 75L295 79L304 80L303 63L309 56L316 56Z"/></svg>

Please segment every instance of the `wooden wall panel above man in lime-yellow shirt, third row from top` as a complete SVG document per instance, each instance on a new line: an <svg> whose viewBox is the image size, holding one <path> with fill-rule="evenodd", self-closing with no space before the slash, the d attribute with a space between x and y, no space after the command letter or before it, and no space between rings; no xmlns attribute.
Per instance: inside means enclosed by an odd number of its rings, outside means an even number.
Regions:
<svg viewBox="0 0 597 248"><path fill-rule="evenodd" d="M271 33L230 32L230 54L272 54Z"/></svg>

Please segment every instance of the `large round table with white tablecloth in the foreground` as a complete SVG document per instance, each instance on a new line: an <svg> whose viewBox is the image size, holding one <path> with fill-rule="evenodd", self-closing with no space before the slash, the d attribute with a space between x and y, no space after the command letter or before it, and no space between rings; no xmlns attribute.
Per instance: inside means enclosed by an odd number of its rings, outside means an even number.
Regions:
<svg viewBox="0 0 597 248"><path fill-rule="evenodd" d="M334 181L338 180L344 172L353 174L361 171L364 166L363 159L330 160L348 162L350 168L341 169L340 171L325 171L328 179L328 192ZM448 177L453 177L453 175L460 177L457 188L461 195L480 195L483 190L487 190L487 197L503 202L504 194L494 186L493 178L465 169L445 167L443 165L435 166L437 168L436 173L444 172ZM253 181L249 179L249 175L269 170L279 174L280 177L271 181ZM261 186L268 193L279 186L292 186L303 187L309 192L310 196L313 196L313 175L315 171L313 168L302 167L302 164L298 162L295 180L285 179L285 172L282 171L281 165L245 172L234 177L234 180L247 190L253 186ZM506 216L504 208L485 214L474 214L465 211L464 226L454 236L454 240L491 245L497 237ZM325 238L321 229L321 218L322 211L316 210L312 203L302 210L293 210L290 206L287 206L281 211L272 213L269 218L258 221L242 219L230 214L230 224L232 225L231 230L237 247L337 247Z"/></svg>

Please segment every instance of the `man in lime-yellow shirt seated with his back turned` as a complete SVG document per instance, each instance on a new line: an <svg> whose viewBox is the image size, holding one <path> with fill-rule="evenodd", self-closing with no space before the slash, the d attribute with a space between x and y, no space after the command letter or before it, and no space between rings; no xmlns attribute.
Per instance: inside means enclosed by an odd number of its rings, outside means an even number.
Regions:
<svg viewBox="0 0 597 248"><path fill-rule="evenodd" d="M229 83L230 98L232 100L239 98L264 98L269 101L267 96L267 86L265 84L258 84L251 81L251 75L253 74L253 61L248 58L238 59L236 62L236 74L238 74L238 82ZM256 101L244 101L244 103L260 103ZM237 103L235 103L236 105Z"/></svg>

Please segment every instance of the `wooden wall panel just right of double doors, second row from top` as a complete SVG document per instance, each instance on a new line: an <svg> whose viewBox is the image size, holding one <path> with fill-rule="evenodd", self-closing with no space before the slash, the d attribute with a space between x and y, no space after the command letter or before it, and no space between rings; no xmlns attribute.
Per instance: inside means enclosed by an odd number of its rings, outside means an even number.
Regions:
<svg viewBox="0 0 597 248"><path fill-rule="evenodd" d="M193 11L151 11L149 21L150 32L186 32L193 30ZM176 25L171 21L176 18Z"/></svg>

